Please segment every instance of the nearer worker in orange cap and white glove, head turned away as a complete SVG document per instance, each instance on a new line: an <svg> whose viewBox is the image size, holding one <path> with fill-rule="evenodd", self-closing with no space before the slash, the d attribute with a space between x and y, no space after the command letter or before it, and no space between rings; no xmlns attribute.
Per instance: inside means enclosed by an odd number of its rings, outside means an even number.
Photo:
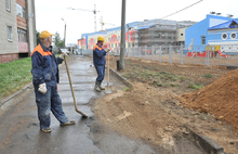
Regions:
<svg viewBox="0 0 238 154"><path fill-rule="evenodd" d="M38 107L38 118L40 120L40 129L43 132L51 132L50 112L54 114L61 125L74 125L74 120L69 120L63 108L62 100L57 92L57 84L60 81L58 64L61 64L66 53L62 52L60 57L55 57L51 49L52 36L44 30L40 34L40 43L31 53L32 61L32 84L36 94L36 103Z"/></svg>

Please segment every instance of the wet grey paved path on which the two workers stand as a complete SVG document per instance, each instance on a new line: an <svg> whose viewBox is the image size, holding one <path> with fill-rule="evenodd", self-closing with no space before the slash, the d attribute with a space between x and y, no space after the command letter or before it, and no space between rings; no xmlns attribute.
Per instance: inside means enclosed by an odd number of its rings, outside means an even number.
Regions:
<svg viewBox="0 0 238 154"><path fill-rule="evenodd" d="M40 131L37 117L34 89L17 102L0 113L0 153L1 154L147 154L153 149L141 141L128 139L105 128L93 116L93 100L104 97L104 92L95 92L96 78L92 60L88 56L70 55L68 61L71 80L79 111L90 116L81 119L75 112L74 100L65 66L60 70L60 95L63 108L69 119L76 120L74 126L60 126L51 114L51 133ZM123 88L123 84L111 76L111 84ZM106 81L103 82L106 85Z"/></svg>

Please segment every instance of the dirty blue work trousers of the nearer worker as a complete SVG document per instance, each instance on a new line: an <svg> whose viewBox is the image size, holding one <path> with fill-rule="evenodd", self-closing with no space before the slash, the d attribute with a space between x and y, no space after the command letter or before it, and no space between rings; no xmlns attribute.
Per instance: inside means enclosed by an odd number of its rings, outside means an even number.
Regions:
<svg viewBox="0 0 238 154"><path fill-rule="evenodd" d="M38 118L40 128L48 128L51 125L50 112L54 114L60 123L66 123L67 117L62 108L62 100L58 95L56 84L55 86L47 85L47 93L38 91L38 86L34 84L36 102L38 107Z"/></svg>

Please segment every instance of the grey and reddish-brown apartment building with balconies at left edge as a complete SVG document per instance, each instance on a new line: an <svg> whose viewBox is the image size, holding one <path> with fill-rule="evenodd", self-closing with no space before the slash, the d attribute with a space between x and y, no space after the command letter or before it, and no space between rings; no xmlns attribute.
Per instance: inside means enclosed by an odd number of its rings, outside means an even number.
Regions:
<svg viewBox="0 0 238 154"><path fill-rule="evenodd" d="M36 47L35 0L0 0L0 63L26 57Z"/></svg>

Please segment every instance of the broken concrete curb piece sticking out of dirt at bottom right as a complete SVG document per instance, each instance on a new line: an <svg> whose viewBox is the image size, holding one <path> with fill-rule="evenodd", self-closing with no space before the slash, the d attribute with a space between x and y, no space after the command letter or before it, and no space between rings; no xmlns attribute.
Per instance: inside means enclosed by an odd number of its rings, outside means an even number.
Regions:
<svg viewBox="0 0 238 154"><path fill-rule="evenodd" d="M217 142L209 138L208 136L201 133L201 132L196 132L194 129L191 129L189 126L184 125L184 127L187 129L188 137L193 139L196 144L201 146L206 152L209 154L226 154L224 152L224 147L220 145Z"/></svg>

